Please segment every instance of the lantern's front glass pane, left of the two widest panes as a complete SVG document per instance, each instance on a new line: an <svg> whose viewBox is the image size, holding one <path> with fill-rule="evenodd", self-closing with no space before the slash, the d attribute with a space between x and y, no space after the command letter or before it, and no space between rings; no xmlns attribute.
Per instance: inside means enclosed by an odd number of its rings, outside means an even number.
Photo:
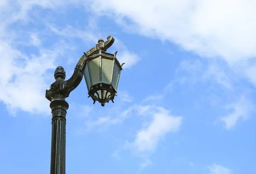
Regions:
<svg viewBox="0 0 256 174"><path fill-rule="evenodd" d="M92 85L99 83L99 57L88 60Z"/></svg>

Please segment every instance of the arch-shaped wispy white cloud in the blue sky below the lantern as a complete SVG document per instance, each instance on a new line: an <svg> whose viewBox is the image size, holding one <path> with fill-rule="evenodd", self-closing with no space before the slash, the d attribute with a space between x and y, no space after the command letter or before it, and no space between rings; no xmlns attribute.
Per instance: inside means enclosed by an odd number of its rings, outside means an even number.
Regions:
<svg viewBox="0 0 256 174"><path fill-rule="evenodd" d="M122 104L105 108L105 110L95 110L90 116L84 117L85 126L78 128L76 133L84 135L84 133L92 130L105 132L110 126L121 125L127 118L140 118L143 121L142 128L135 133L134 141L128 142L126 140L125 144L117 151L114 151L112 156L116 159L121 159L119 156L121 150L131 150L141 159L140 170L142 170L153 164L149 159L149 155L155 151L159 141L164 139L166 134L177 132L180 129L182 117L173 116L169 110L155 105L135 104L125 110L120 106Z"/></svg>

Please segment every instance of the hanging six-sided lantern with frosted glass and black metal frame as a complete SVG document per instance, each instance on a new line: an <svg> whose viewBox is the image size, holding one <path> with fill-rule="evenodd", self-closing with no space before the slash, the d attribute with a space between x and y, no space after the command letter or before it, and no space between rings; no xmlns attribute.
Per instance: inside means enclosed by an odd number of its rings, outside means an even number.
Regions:
<svg viewBox="0 0 256 174"><path fill-rule="evenodd" d="M99 49L85 59L83 74L88 89L88 97L93 104L98 101L102 106L110 100L113 102L122 65L116 59L116 53L110 54Z"/></svg>

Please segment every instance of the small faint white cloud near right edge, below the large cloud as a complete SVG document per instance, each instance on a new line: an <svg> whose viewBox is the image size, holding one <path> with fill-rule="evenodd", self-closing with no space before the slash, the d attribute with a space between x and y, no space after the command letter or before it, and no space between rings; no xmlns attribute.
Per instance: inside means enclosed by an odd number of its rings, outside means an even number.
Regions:
<svg viewBox="0 0 256 174"><path fill-rule="evenodd" d="M238 101L228 104L226 109L231 110L231 113L221 117L220 120L225 123L226 129L231 129L239 119L247 120L249 118L254 111L254 105L245 96L242 96Z"/></svg>

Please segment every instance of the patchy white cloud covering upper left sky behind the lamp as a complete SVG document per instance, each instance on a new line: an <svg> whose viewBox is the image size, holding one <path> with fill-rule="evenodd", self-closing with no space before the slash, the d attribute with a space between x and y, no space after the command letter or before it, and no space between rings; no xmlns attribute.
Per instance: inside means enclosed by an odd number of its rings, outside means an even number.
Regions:
<svg viewBox="0 0 256 174"><path fill-rule="evenodd" d="M23 110L31 113L48 113L49 101L45 99L45 89L54 81L53 74L49 74L49 69L55 69L57 58L69 56L67 51L75 49L70 43L56 40L55 44L44 47L44 38L41 29L30 27L35 20L31 16L34 9L39 8L56 9L60 6L76 4L76 0L55 1L54 3L44 0L18 0L13 4L11 1L1 1L0 3L0 101L6 104L8 110L15 114L16 110ZM34 13L33 13L34 14ZM7 17L8 16L8 17ZM74 29L72 26L58 30L48 21L42 19L41 23L48 28L47 34L61 35L62 38L73 37L82 38L86 43L94 42L100 38L97 32L96 20L89 19L89 23L84 30ZM29 26L16 29L17 23ZM11 27L12 26L12 27ZM96 32L94 32L96 31ZM25 40L24 40L25 39ZM20 52L20 47L33 46L36 55ZM21 49L22 50L22 49ZM123 50L123 51L122 51ZM135 53L129 52L122 45L120 59L127 61L127 67L131 67L137 58ZM68 59L68 58L67 58ZM126 98L127 102L130 100Z"/></svg>

